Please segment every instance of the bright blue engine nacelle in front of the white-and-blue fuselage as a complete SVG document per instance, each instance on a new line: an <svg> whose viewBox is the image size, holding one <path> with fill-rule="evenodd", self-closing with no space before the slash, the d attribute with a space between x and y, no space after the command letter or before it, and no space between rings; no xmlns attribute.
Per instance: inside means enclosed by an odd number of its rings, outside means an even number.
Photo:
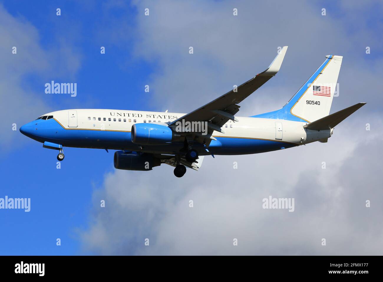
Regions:
<svg viewBox="0 0 383 282"><path fill-rule="evenodd" d="M133 124L131 140L139 145L165 145L180 139L181 135L161 124Z"/></svg>

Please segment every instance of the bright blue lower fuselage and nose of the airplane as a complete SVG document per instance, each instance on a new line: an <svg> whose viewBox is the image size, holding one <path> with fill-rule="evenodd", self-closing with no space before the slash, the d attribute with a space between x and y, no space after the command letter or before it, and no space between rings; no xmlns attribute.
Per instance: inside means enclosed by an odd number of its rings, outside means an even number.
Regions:
<svg viewBox="0 0 383 282"><path fill-rule="evenodd" d="M97 148L110 150L130 150L150 153L174 153L183 148L183 142L172 142L167 145L140 146L131 141L131 132L113 130L64 129L55 119L34 120L20 131L39 142L52 142L63 147ZM200 155L241 155L253 154L291 148L293 143L241 137L216 137L208 150L200 143L195 149Z"/></svg>

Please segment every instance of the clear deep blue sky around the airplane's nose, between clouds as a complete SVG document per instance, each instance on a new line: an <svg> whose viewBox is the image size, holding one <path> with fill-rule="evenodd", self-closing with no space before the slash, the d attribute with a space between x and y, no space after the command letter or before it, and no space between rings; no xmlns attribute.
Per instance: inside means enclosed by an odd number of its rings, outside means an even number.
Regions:
<svg viewBox="0 0 383 282"><path fill-rule="evenodd" d="M76 1L60 4L48 1L3 3L6 12L16 19L28 21L37 29L38 43L43 52L45 49L56 49L57 44L67 45L75 57L71 60L79 64L72 73L52 71L40 75L31 69L23 76L23 88L26 91L33 89L47 105L45 110L36 111L24 123L51 110L80 105L90 108L143 109L144 79L150 75L151 66L142 60L132 60L129 45L119 48L97 38L100 36L97 36L96 26L102 29L104 24L100 18L107 20L110 15L105 15L94 3L89 2L92 6L90 9L86 8L87 5ZM56 16L57 7L61 8L61 16ZM118 10L112 9L109 13L118 16ZM134 20L136 9L128 7L123 12L124 17ZM100 54L101 46L106 48L104 55ZM18 53L21 52L23 50L18 48ZM62 61L65 61L65 57ZM52 67L55 70L61 66ZM72 98L68 95L45 94L44 84L51 80L77 82L78 96ZM29 106L33 108L33 104ZM150 109L150 106L145 108ZM18 124L18 127L21 125ZM72 157L66 158L68 162L63 162L58 170L56 151L44 150L42 144L23 138L18 131L13 134L16 135L16 142L21 144L2 154L1 197L31 198L31 211L2 210L1 229L8 232L2 232L0 241L8 243L2 244L1 254L79 254L76 228L87 224L92 189L100 184L106 171L114 169L113 152L82 150L82 153L76 153L81 150L67 148L65 155ZM56 238L61 238L61 247L56 246Z"/></svg>

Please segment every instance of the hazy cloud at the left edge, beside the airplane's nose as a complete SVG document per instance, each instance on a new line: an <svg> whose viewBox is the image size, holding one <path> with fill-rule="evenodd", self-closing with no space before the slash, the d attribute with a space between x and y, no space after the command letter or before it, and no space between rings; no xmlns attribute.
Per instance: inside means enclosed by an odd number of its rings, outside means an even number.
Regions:
<svg viewBox="0 0 383 282"><path fill-rule="evenodd" d="M44 93L44 84L55 75L74 76L80 67L79 55L66 42L47 49L40 43L38 30L23 17L10 15L0 5L0 151L9 152L20 137L21 125L54 110ZM12 54L12 48L17 49ZM28 76L44 78L40 89L32 86ZM17 131L12 130L16 123Z"/></svg>

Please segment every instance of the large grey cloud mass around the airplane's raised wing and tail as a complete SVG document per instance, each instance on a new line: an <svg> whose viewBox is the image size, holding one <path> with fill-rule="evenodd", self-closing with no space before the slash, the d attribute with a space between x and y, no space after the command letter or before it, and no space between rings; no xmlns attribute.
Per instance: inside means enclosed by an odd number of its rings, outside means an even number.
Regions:
<svg viewBox="0 0 383 282"><path fill-rule="evenodd" d="M89 227L79 231L83 249L97 254L381 254L383 126L376 93L382 69L381 59L365 54L365 46L377 48L381 38L367 28L368 13L358 12L364 8L348 3L342 3L346 13L338 18L331 7L324 17L322 7L304 2L137 2L135 55L158 64L148 81L157 107L193 110L263 71L283 45L289 49L280 73L246 99L238 115L282 107L324 55L334 53L344 62L332 112L368 104L340 124L328 143L205 157L199 172L188 171L181 179L165 165L151 172L107 173L93 195ZM150 16L144 16L144 8ZM232 16L233 8L239 16ZM350 33L347 25L355 17L361 27ZM115 44L121 42L124 38ZM188 54L189 46L194 54ZM269 195L295 198L295 211L262 209ZM144 246L145 238L150 246ZM322 238L327 246L321 246Z"/></svg>

